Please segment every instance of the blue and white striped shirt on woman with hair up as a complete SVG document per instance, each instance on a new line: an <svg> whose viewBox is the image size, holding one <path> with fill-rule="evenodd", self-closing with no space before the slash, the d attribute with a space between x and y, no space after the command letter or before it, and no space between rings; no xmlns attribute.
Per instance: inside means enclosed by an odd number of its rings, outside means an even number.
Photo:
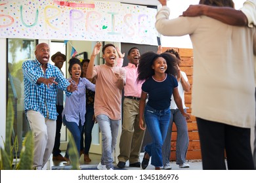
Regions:
<svg viewBox="0 0 256 183"><path fill-rule="evenodd" d="M71 80L71 78L68 80ZM81 120L81 124L85 124L86 90L95 92L95 84L91 83L89 80L87 80L87 78L79 78L77 90L72 93L71 97L66 98L62 118L65 115L68 122L75 122L77 125L79 125L79 121Z"/></svg>

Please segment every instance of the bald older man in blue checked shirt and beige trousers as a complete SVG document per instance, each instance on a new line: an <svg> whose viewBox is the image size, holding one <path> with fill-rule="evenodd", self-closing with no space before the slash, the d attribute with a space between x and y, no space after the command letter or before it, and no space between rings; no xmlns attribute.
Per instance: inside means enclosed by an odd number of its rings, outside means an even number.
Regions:
<svg viewBox="0 0 256 183"><path fill-rule="evenodd" d="M24 61L25 111L34 136L34 169L42 169L53 151L56 131L56 91L64 90L67 97L77 90L58 67L48 63L50 48L41 43L35 47L35 59Z"/></svg>

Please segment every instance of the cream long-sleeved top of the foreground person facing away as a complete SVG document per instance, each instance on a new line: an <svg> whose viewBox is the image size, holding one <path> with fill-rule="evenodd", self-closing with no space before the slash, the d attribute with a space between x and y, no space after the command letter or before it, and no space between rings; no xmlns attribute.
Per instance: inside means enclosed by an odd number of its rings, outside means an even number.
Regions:
<svg viewBox="0 0 256 183"><path fill-rule="evenodd" d="M255 88L253 54L248 53L253 53L255 29L223 24L207 16L176 20L169 29L158 22L156 27L163 35L190 35L194 48L192 114L251 127L255 123Z"/></svg>

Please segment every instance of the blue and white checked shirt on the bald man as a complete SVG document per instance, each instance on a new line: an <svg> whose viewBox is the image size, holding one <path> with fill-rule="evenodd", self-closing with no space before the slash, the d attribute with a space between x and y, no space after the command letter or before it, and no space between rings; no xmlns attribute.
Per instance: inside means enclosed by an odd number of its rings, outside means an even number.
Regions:
<svg viewBox="0 0 256 183"><path fill-rule="evenodd" d="M45 118L56 120L58 115L56 112L57 88L64 90L66 96L69 97L72 94L67 91L70 83L64 78L60 69L50 63L47 63L47 69L44 73L41 63L37 59L24 61L22 70L24 74L25 110L35 110ZM49 77L54 77L58 85L52 84L48 88L43 83L37 84L38 78Z"/></svg>

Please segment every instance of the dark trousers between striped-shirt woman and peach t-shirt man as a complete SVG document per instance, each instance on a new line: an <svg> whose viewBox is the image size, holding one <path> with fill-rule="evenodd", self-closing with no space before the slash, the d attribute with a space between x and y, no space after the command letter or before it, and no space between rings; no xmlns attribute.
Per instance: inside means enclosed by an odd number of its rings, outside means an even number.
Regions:
<svg viewBox="0 0 256 183"><path fill-rule="evenodd" d="M83 150L84 154L89 154L89 150L91 147L91 140L92 140L92 130L93 125L95 124L93 120L93 115L95 115L95 111L92 106L86 106L86 114L85 114L85 124L83 125L83 129L81 132L81 143L80 143L80 150ZM83 133L85 134L85 140L83 141ZM85 146L83 146L83 143Z"/></svg>

